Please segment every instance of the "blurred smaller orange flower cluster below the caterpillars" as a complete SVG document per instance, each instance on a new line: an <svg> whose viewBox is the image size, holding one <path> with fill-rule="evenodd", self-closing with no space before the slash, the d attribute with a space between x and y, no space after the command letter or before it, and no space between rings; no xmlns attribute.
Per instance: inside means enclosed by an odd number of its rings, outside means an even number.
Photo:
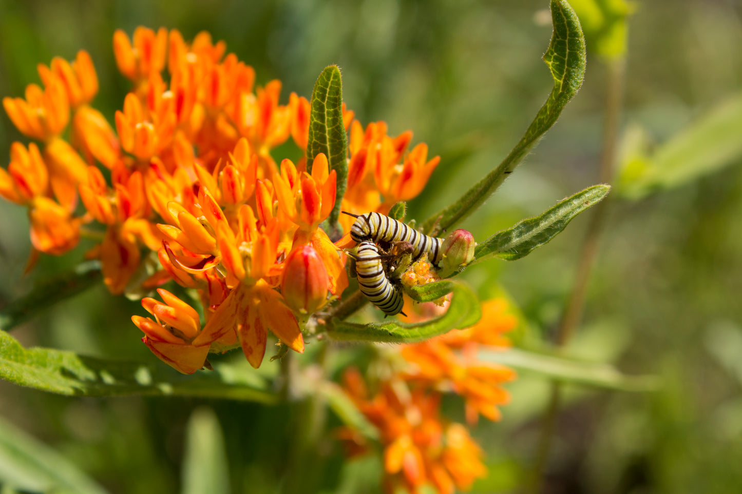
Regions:
<svg viewBox="0 0 742 494"><path fill-rule="evenodd" d="M405 307L411 320L428 318L441 309L433 303ZM427 312L424 314L424 312ZM516 326L508 303L499 298L482 304L482 320L468 329L456 330L430 340L404 346L406 365L384 378L378 392L370 395L361 374L349 369L344 375L347 393L358 409L378 428L384 447L385 487L409 493L432 485L441 494L467 490L476 478L486 475L482 449L462 424L441 420L441 391L464 398L467 421L481 413L499 420L497 406L509 400L501 384L515 373L504 367L476 360L480 346L503 349L509 346L503 333ZM342 429L352 452L362 452L364 438L353 429Z"/></svg>

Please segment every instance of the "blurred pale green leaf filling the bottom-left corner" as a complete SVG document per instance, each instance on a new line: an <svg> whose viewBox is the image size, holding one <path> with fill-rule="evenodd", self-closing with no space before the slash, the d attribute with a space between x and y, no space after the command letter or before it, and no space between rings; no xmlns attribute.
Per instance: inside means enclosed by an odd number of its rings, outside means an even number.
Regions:
<svg viewBox="0 0 742 494"><path fill-rule="evenodd" d="M36 493L106 492L59 452L3 418L0 418L0 484Z"/></svg>

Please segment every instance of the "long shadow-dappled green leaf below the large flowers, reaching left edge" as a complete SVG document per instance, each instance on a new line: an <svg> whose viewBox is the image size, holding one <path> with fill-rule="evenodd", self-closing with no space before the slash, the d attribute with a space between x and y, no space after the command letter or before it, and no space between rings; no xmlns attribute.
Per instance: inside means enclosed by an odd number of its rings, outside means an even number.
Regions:
<svg viewBox="0 0 742 494"><path fill-rule="evenodd" d="M190 396L226 398L273 404L277 397L264 381L232 373L228 365L215 372L185 376L157 363L82 357L63 350L24 349L7 332L0 331L0 379L33 389L69 396ZM237 375L234 375L237 374Z"/></svg>

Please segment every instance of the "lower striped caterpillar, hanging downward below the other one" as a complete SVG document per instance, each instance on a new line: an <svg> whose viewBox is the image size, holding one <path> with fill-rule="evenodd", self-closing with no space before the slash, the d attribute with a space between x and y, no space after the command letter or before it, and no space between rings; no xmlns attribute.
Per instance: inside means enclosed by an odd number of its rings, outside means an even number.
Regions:
<svg viewBox="0 0 742 494"><path fill-rule="evenodd" d="M402 312L404 305L402 292L387 278L376 244L368 241L361 242L353 257L355 257L355 272L358 274L358 287L361 293L372 304L384 311L384 314L395 315Z"/></svg>

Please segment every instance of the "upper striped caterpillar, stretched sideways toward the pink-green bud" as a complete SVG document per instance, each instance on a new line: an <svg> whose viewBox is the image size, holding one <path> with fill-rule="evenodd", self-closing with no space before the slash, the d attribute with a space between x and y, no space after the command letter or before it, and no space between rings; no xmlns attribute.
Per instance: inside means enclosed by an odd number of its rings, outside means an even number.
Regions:
<svg viewBox="0 0 742 494"><path fill-rule="evenodd" d="M405 225L401 221L393 220L384 214L366 213L351 214L355 223L350 228L350 237L356 242L384 240L386 242L409 242L413 246L413 260L417 260L424 252L433 266L437 266L443 258L441 245L443 239L421 234L415 228Z"/></svg>

